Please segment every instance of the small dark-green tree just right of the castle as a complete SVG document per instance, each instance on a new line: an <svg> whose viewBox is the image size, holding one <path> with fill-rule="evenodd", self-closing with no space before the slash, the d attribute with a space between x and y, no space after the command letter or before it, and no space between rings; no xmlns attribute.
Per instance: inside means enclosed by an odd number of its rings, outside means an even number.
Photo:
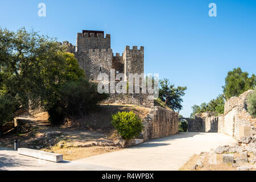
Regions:
<svg viewBox="0 0 256 182"><path fill-rule="evenodd" d="M186 86L175 86L170 84L167 78L159 80L159 98L166 103L172 110L180 111L182 109L181 102L183 102L182 96L185 95Z"/></svg>

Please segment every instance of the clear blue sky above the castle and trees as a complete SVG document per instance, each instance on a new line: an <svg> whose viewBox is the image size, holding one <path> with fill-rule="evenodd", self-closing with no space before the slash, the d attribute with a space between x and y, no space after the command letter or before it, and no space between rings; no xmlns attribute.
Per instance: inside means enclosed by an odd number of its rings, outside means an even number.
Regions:
<svg viewBox="0 0 256 182"><path fill-rule="evenodd" d="M46 17L38 4L46 4ZM217 17L208 15L216 3ZM76 43L77 32L111 34L113 52L144 46L144 72L187 86L180 114L222 93L226 73L256 73L256 1L48 1L1 0L0 26L32 28ZM105 28L106 27L106 28Z"/></svg>

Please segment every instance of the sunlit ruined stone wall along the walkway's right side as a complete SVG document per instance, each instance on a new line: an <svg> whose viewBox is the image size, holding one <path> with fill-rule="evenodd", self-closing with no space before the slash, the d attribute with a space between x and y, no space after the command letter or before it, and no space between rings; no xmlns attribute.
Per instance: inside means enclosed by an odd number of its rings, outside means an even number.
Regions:
<svg viewBox="0 0 256 182"><path fill-rule="evenodd" d="M256 130L256 118L246 111L246 98L253 90L247 90L238 97L231 97L225 102L223 115L213 113L196 114L195 119L188 121L188 131L219 132L228 134L235 139L240 137L240 127L250 126L251 133Z"/></svg>

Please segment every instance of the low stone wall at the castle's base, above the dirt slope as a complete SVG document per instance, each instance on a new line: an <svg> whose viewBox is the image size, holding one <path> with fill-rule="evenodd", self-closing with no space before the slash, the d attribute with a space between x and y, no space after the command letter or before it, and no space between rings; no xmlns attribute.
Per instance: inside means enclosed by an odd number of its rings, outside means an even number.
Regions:
<svg viewBox="0 0 256 182"><path fill-rule="evenodd" d="M108 104L133 104L144 107L154 106L154 96L142 93L109 94L109 97L102 103Z"/></svg>

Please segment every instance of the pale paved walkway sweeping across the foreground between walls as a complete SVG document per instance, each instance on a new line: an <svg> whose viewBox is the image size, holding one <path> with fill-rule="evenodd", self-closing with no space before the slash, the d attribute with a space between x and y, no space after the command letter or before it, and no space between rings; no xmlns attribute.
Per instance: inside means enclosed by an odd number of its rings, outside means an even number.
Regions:
<svg viewBox="0 0 256 182"><path fill-rule="evenodd" d="M125 150L52 163L0 148L0 170L179 170L193 154L235 140L221 133L179 133Z"/></svg>

